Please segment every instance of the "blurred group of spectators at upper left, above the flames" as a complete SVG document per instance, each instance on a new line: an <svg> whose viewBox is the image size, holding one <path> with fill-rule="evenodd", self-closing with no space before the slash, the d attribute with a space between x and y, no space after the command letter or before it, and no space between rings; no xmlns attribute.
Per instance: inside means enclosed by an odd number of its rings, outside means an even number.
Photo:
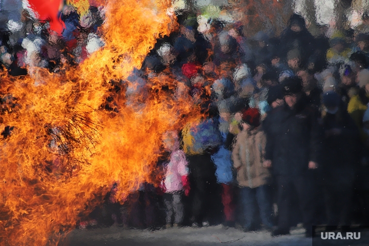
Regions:
<svg viewBox="0 0 369 246"><path fill-rule="evenodd" d="M12 76L29 74L37 79L35 68L59 73L103 46L98 33L104 19L102 7L91 6L80 16L72 5L65 5L60 19L64 22L62 34L51 30L50 22L37 19L30 9L23 9L20 21L9 19L1 25L1 69L6 68Z"/></svg>

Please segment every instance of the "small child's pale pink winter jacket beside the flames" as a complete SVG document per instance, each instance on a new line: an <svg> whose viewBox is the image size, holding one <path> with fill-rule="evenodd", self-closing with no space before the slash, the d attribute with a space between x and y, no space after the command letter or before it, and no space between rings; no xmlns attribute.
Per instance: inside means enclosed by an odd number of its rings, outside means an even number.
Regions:
<svg viewBox="0 0 369 246"><path fill-rule="evenodd" d="M170 160L165 166L164 185L167 193L181 191L183 188L182 176L188 175L187 160L183 150L171 153Z"/></svg>

